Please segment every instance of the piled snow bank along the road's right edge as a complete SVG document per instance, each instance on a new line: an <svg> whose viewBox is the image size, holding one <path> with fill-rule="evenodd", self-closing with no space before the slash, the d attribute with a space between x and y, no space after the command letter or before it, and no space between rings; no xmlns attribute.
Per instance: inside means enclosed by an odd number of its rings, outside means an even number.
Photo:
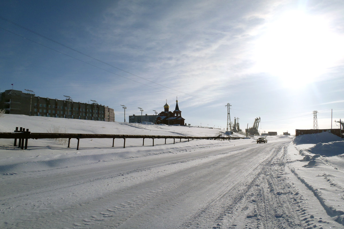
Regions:
<svg viewBox="0 0 344 229"><path fill-rule="evenodd" d="M328 132L300 135L288 147L289 168L344 225L344 140Z"/></svg>

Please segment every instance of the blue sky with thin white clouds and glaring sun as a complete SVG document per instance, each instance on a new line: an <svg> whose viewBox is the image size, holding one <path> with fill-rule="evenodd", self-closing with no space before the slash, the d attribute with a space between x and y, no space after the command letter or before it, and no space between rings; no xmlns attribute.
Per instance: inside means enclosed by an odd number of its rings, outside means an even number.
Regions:
<svg viewBox="0 0 344 229"><path fill-rule="evenodd" d="M118 122L176 96L196 126L226 128L227 103L261 132L344 119L340 0L1 1L0 17L1 91L96 100Z"/></svg>

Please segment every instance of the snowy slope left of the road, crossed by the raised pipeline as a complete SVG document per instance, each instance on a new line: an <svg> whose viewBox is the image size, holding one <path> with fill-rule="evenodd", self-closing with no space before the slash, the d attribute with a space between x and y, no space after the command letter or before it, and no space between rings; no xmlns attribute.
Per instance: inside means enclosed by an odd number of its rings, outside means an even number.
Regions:
<svg viewBox="0 0 344 229"><path fill-rule="evenodd" d="M128 134L128 135L169 135L169 136L194 136L210 137L216 136L219 129L188 127L188 126L166 126L151 123L119 123L101 122L92 120L37 117L26 115L8 115L0 117L0 132L13 132L15 127L29 128L33 133L80 133L80 134ZM180 142L179 139L175 140ZM187 140L183 139L183 142ZM238 141L237 141L238 142ZM245 141L244 141L245 142ZM197 147L201 145L222 145L224 142L198 140ZM171 145L172 144L172 145ZM228 144L228 142L227 142ZM166 148L178 149L191 146L191 141L178 145L173 144L173 139L145 139L146 148L137 148L143 145L143 139L126 139L126 148L123 149L123 139L115 139L112 147L112 139L80 139L79 150L76 150L77 140L71 139L71 148L67 148L66 141L59 139L29 139L28 150L20 150L13 147L13 139L0 139L0 166L18 164L24 162L50 161L73 157L78 160L91 160L90 158L134 158L159 153ZM149 148L148 148L149 147ZM193 146L195 147L195 146ZM154 151L152 151L154 150ZM172 150L173 151L173 150ZM95 156L97 155L97 156ZM82 157L81 157L82 156ZM77 160L77 159L73 159ZM93 159L92 159L93 160ZM62 161L60 161L62 163ZM70 162L71 163L71 162ZM55 163L58 164L58 163ZM21 165L23 166L23 165ZM29 168L29 166L27 166ZM4 171L2 171L4 172Z"/></svg>

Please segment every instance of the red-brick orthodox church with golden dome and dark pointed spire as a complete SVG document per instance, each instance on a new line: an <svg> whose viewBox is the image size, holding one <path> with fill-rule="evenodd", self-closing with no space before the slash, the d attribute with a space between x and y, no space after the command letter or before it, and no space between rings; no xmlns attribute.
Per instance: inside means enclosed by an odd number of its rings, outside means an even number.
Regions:
<svg viewBox="0 0 344 229"><path fill-rule="evenodd" d="M174 111L169 111L170 105L166 104L164 105L164 111L159 113L159 116L157 117L157 124L166 124L166 125L184 125L184 118L182 118L182 112L179 110L178 107L178 98L175 101L175 109Z"/></svg>

